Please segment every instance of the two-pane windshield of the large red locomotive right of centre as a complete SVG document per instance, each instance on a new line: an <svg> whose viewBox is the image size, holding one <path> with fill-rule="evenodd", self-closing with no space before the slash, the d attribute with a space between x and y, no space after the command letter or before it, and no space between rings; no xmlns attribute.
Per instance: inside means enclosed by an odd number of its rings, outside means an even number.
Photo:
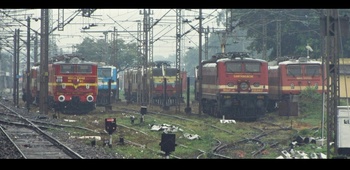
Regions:
<svg viewBox="0 0 350 170"><path fill-rule="evenodd" d="M252 62L228 62L226 63L226 72L228 73L258 73L260 72L260 63Z"/></svg>

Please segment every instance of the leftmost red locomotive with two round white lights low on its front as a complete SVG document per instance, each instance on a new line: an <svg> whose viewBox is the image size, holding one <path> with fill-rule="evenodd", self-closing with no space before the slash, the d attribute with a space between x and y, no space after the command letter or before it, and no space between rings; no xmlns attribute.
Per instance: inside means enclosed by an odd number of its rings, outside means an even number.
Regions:
<svg viewBox="0 0 350 170"><path fill-rule="evenodd" d="M98 95L98 64L84 61L79 55L53 57L48 65L48 106L61 113L85 114L96 108ZM33 104L40 103L40 66L30 69L30 85L27 89L23 76L22 99ZM30 96L27 95L29 90Z"/></svg>

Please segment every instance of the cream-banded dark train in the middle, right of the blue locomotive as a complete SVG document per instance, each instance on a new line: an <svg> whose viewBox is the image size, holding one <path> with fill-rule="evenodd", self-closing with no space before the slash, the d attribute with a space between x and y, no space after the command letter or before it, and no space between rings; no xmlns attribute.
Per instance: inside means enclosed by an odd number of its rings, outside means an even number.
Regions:
<svg viewBox="0 0 350 170"><path fill-rule="evenodd" d="M180 72L169 61L155 61L145 69L145 73L143 70L139 67L124 71L124 97L127 102L149 102L165 107L183 102L182 92L187 89L184 87L187 82L186 72ZM144 78L145 74L147 79ZM176 76L180 77L179 80L176 80ZM146 86L143 86L143 83Z"/></svg>

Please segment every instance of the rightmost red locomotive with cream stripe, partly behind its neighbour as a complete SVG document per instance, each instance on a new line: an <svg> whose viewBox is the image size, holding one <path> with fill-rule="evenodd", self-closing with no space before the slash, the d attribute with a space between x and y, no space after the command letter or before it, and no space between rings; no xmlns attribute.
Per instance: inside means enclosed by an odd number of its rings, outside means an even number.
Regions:
<svg viewBox="0 0 350 170"><path fill-rule="evenodd" d="M276 65L269 66L268 111L298 114L298 95L302 90L314 88L322 94L324 70L322 62L305 57L278 59Z"/></svg>

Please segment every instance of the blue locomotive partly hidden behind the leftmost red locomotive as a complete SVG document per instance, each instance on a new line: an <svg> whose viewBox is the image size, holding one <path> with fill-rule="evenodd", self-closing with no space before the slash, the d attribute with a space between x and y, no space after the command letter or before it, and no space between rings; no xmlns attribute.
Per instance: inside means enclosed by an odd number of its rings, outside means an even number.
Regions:
<svg viewBox="0 0 350 170"><path fill-rule="evenodd" d="M117 67L100 65L97 68L98 95L97 106L106 106L113 103L119 95Z"/></svg>

